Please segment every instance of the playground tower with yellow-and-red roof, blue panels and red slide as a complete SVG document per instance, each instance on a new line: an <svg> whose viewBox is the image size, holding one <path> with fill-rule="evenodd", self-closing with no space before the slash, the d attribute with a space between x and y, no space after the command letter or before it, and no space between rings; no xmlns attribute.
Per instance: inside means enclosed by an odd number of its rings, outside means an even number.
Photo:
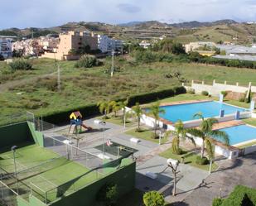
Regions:
<svg viewBox="0 0 256 206"><path fill-rule="evenodd" d="M73 133L78 134L82 132L82 127L84 127L86 130L92 129L92 127L87 127L83 123L82 118L83 116L79 111L70 114L70 130L73 125L75 126L73 129ZM70 130L69 130L69 133L70 133Z"/></svg>

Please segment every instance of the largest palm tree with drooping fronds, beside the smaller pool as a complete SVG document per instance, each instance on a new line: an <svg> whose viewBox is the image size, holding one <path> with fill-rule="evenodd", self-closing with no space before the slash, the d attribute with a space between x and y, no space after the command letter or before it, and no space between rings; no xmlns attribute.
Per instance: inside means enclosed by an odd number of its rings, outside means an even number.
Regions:
<svg viewBox="0 0 256 206"><path fill-rule="evenodd" d="M208 118L202 115L202 113L196 113L194 117L200 117L202 122L200 123L199 128L191 128L188 129L191 135L195 137L200 137L202 139L202 146L201 146L201 158L204 157L205 154L205 147L208 153L209 158L211 159L215 154L215 149L212 144L212 138L224 141L227 146L229 146L229 136L226 132L213 130L213 125L218 122L215 118Z"/></svg>

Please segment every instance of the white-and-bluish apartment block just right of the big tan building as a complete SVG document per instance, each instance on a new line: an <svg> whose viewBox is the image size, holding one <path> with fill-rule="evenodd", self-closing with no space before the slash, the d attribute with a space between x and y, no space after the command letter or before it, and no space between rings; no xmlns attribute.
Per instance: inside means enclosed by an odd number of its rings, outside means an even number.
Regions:
<svg viewBox="0 0 256 206"><path fill-rule="evenodd" d="M109 38L106 35L98 35L98 48L103 53L111 53L114 51L122 51L123 50L123 41L115 40Z"/></svg>

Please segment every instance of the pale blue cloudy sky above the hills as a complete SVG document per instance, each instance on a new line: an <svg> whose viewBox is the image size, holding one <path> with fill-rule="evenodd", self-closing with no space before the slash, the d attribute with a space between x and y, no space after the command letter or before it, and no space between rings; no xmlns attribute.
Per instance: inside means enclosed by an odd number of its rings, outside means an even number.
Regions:
<svg viewBox="0 0 256 206"><path fill-rule="evenodd" d="M256 0L0 0L0 29L157 20L256 22Z"/></svg>

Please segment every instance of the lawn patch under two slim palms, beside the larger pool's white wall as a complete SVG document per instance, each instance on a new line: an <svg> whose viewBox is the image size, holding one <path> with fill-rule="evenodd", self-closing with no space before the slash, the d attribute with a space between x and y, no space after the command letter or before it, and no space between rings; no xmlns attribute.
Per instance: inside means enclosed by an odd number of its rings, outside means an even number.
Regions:
<svg viewBox="0 0 256 206"><path fill-rule="evenodd" d="M125 132L128 135L131 135L133 137L137 137L138 139L147 140L147 141L153 141L155 143L159 143L159 139L153 139L152 136L154 135L154 132L152 130L149 130L147 128L142 127L142 132L136 132L135 129L128 130ZM167 138L162 138L161 140L162 144L167 142Z"/></svg>

